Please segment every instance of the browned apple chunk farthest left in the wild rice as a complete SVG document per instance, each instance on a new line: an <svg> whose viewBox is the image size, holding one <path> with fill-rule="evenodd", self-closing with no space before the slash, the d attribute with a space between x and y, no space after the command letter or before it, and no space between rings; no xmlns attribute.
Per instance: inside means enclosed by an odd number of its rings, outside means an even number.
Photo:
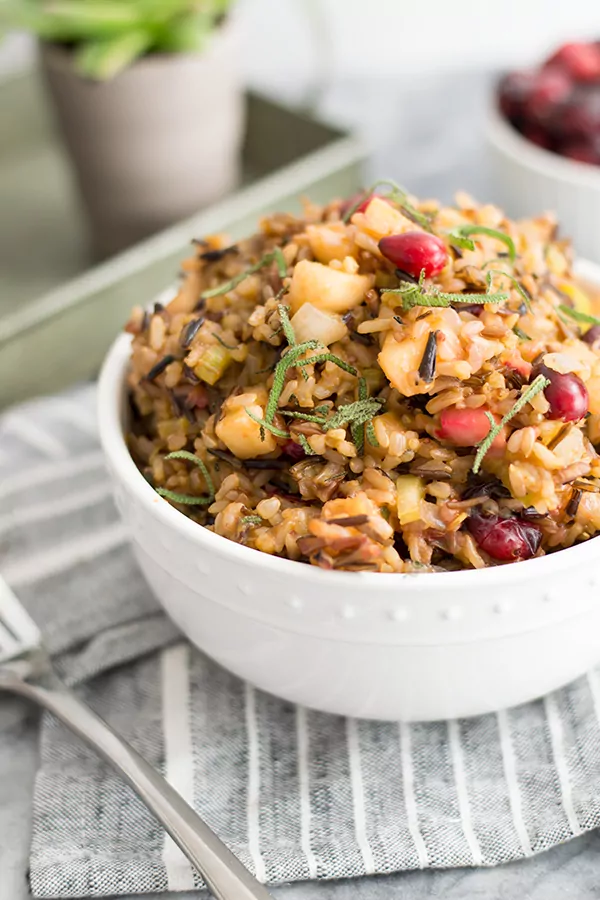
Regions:
<svg viewBox="0 0 600 900"><path fill-rule="evenodd" d="M216 424L215 432L219 440L231 450L238 459L253 459L272 453L277 441L270 431L265 429L265 439L261 439L260 425L251 419L247 409L260 419L264 419L267 405L267 391L264 388L253 388L245 394L228 397L221 407L221 417Z"/></svg>

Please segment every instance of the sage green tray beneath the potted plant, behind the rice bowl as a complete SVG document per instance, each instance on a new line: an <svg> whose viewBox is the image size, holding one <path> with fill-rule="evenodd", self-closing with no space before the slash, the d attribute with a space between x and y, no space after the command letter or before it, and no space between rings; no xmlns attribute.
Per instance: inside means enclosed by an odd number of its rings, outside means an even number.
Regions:
<svg viewBox="0 0 600 900"><path fill-rule="evenodd" d="M360 141L248 95L241 188L218 204L85 270L85 230L66 161L33 74L0 84L0 408L93 378L131 306L172 283L190 241L251 233L300 198L360 184Z"/></svg>

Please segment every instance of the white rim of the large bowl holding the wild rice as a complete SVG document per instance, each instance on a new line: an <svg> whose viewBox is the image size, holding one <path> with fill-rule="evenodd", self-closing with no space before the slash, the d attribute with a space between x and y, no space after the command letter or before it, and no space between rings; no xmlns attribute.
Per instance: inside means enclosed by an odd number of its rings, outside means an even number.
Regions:
<svg viewBox="0 0 600 900"><path fill-rule="evenodd" d="M592 283L600 286L600 265L589 260L577 260L576 271ZM163 291L161 298L172 296L172 288ZM98 379L97 418L104 456L110 474L119 483L127 485L136 500L153 517L199 548L217 553L250 568L259 566L281 577L302 578L306 582L320 584L332 590L356 588L388 593L399 585L408 587L411 593L421 594L436 590L485 590L491 585L511 585L540 577L566 568L585 565L594 556L594 538L573 547L558 550L547 556L518 563L490 566L485 569L464 569L456 572L336 572L308 565L298 560L284 559L252 547L245 547L222 535L215 534L193 519L188 518L165 499L160 497L146 481L129 452L121 423L124 399L125 372L129 363L131 335L122 333L110 347ZM599 536L600 537L600 536ZM600 544L598 544L600 550ZM399 594L398 602L409 598ZM466 598L465 598L466 599Z"/></svg>

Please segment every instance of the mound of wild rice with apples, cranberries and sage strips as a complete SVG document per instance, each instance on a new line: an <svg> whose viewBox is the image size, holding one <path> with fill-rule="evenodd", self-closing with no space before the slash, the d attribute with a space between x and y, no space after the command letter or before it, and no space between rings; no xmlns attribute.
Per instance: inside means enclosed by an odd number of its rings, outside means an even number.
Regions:
<svg viewBox="0 0 600 900"><path fill-rule="evenodd" d="M386 182L136 308L130 447L168 502L326 569L482 568L600 530L600 319L550 216Z"/></svg>

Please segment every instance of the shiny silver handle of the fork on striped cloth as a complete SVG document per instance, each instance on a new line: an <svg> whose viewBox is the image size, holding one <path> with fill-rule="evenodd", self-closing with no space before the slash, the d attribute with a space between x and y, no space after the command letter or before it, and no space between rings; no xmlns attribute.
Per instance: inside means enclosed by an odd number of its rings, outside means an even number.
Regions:
<svg viewBox="0 0 600 900"><path fill-rule="evenodd" d="M53 713L116 769L202 874L218 900L272 900L163 776L72 691L60 683L42 687L20 681L3 686Z"/></svg>

